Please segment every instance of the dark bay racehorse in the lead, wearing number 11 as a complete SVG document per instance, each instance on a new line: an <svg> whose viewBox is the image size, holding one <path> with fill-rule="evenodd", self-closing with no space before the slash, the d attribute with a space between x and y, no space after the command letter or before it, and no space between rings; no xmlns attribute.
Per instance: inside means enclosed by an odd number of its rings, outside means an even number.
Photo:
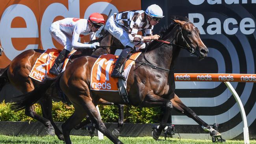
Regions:
<svg viewBox="0 0 256 144"><path fill-rule="evenodd" d="M186 17L176 17L167 29L161 31L160 35L163 41L151 42L143 54L135 60L135 65L130 70L127 79L127 92L130 99L128 104L140 107L165 107L160 126L152 132L152 137L156 140L165 128L172 109L193 118L205 131L209 131L211 136L220 136L218 131L201 120L174 93L173 66L180 49L184 48L197 55L198 59L203 59L208 54L208 48L201 41L198 29ZM57 80L48 79L48 82L46 80L37 89L23 94L23 102L15 104L17 109L37 102L40 96L33 95L46 89L47 83L59 81L61 90L75 108L72 116L62 125L65 143L71 144L70 131L88 114L96 129L113 143L121 144L122 142L106 129L95 105L98 105L100 98L113 103L127 103L119 96L119 92L90 89L91 70L95 61L96 58L91 56L76 59Z"/></svg>

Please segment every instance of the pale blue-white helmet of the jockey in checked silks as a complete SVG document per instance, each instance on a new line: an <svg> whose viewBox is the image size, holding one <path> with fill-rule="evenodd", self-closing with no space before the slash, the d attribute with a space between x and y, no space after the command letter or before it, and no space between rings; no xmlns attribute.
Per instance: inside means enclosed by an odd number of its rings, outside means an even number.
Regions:
<svg viewBox="0 0 256 144"><path fill-rule="evenodd" d="M165 17L165 16L163 16L163 10L161 9L161 7L156 4L152 4L151 6L149 6L146 9L145 13L146 13L146 15L149 15L150 17L158 17L158 18Z"/></svg>

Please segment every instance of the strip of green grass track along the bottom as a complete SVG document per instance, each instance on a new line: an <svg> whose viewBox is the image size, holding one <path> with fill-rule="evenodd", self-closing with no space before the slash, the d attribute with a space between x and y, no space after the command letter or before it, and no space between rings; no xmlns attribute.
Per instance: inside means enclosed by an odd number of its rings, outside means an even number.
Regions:
<svg viewBox="0 0 256 144"><path fill-rule="evenodd" d="M104 140L98 140L98 137L87 136L71 136L73 144L113 144L108 138L104 137ZM156 141L152 137L120 137L124 144L213 144L211 140L190 140L181 139L180 141L174 138L164 140L160 137L160 140ZM243 140L227 140L225 144L243 144ZM19 136L12 137L6 135L0 135L0 144L64 144L56 136ZM250 140L250 144L256 144L256 140Z"/></svg>

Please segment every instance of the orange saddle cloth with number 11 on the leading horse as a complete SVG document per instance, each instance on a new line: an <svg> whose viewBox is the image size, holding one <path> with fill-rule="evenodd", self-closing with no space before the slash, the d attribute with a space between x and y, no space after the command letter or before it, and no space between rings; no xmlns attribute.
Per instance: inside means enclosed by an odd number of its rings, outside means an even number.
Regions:
<svg viewBox="0 0 256 144"><path fill-rule="evenodd" d="M126 80L132 65L135 64L135 60L140 54L141 52L134 53L130 59L126 61L123 72ZM113 68L115 67L114 63L117 61L117 58L118 56L112 54L100 55L100 57L98 57L91 71L91 90L118 91L118 78L112 78L110 76Z"/></svg>

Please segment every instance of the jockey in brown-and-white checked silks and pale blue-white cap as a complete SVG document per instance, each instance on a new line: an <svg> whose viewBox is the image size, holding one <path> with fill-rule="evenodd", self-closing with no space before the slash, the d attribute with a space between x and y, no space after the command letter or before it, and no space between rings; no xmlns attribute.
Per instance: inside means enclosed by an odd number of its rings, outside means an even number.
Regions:
<svg viewBox="0 0 256 144"><path fill-rule="evenodd" d="M133 48L135 47L136 50L145 48L144 41L150 41L160 37L159 35L152 35L152 30L154 25L158 24L159 20L163 17L161 7L156 4L149 6L146 11L125 11L115 13L109 17L105 26L106 30L125 46L125 49L122 50L115 63L111 77L124 78L120 74L119 68ZM138 35L138 31L144 31L144 36Z"/></svg>

